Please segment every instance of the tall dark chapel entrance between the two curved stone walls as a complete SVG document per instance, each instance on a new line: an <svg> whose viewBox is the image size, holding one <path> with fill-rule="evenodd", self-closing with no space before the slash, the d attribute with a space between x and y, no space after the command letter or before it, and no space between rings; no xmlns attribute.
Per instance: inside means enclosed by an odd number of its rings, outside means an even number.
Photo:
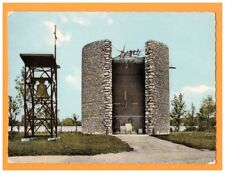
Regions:
<svg viewBox="0 0 225 173"><path fill-rule="evenodd" d="M113 58L112 95L113 133L145 133L143 57Z"/></svg>

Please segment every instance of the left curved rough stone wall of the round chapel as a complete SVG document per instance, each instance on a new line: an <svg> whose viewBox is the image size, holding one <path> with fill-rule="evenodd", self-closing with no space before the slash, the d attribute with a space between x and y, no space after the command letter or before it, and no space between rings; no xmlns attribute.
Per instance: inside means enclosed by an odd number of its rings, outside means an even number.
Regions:
<svg viewBox="0 0 225 173"><path fill-rule="evenodd" d="M111 42L101 40L82 51L82 131L112 133Z"/></svg>

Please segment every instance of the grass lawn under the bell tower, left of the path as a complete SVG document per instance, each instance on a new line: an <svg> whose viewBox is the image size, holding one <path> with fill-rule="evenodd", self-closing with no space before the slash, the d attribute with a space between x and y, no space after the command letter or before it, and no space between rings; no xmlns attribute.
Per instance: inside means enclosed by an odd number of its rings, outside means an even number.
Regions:
<svg viewBox="0 0 225 173"><path fill-rule="evenodd" d="M30 142L21 142L23 134L15 133L9 137L9 156L95 155L133 150L127 143L109 135L61 133L59 136L57 141L47 141L47 136L41 136Z"/></svg>

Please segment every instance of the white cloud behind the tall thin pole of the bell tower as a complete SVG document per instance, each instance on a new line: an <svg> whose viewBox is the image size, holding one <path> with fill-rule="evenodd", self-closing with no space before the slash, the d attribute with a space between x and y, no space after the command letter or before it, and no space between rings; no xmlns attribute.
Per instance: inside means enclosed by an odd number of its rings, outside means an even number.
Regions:
<svg viewBox="0 0 225 173"><path fill-rule="evenodd" d="M50 30L50 32L52 32L52 34L54 33L55 30L55 23L51 22L51 21L44 21L44 25ZM70 33L62 33L61 30L59 30L59 28L57 28L56 31L56 35L57 35L57 45L60 46L62 43L64 42L69 42L71 39L71 34ZM54 40L52 39L50 41L50 44L53 44Z"/></svg>

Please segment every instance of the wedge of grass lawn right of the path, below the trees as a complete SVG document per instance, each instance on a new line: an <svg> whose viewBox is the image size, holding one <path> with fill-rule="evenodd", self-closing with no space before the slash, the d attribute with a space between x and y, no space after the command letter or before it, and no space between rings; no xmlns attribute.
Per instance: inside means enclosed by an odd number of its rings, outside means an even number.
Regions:
<svg viewBox="0 0 225 173"><path fill-rule="evenodd" d="M172 132L170 135L157 136L160 139L172 141L197 149L216 149L215 132Z"/></svg>

